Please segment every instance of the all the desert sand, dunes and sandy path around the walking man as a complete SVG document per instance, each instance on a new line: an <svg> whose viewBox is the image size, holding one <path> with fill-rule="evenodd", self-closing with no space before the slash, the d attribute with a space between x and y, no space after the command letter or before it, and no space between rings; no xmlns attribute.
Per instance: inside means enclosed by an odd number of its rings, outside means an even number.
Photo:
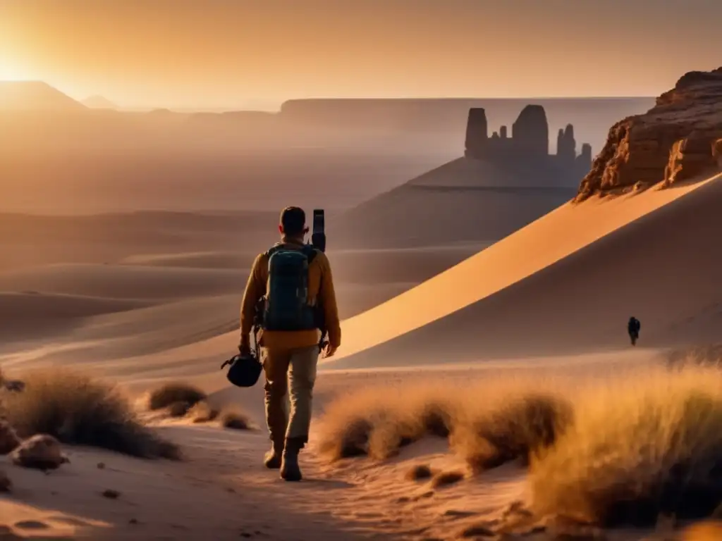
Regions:
<svg viewBox="0 0 722 541"><path fill-rule="evenodd" d="M323 363L318 413L348 390L388 384L432 381L453 389L506 376L604 377L658 364L662 346L713 337L719 268L709 234L718 230L721 182L718 176L562 206L468 259L479 246L330 252L348 269L339 295L356 295L348 302L362 313L344 321L344 347ZM454 539L526 497L526 475L514 465L445 488L406 480L419 463L464 471L440 440L420 441L381 464L365 458L329 464L312 436L302 459L305 482L283 483L260 464L268 444L261 386L229 387L219 371L238 338L234 312L246 256L126 252L105 264L51 263L0 274L3 307L12 309L3 310L6 373L71 366L120 382L139 403L144 392L181 379L209 392L215 405L239 405L257 428L232 431L155 415L147 421L181 445L183 462L68 447L71 462L49 475L7 465L15 488L0 497L0 524L15 535ZM396 264L387 267L389 258ZM360 271L360 263L370 271ZM678 271L655 275L661 264ZM690 269L694 283L669 283ZM383 287L372 287L378 281ZM669 292L664 298L656 294L662 288ZM407 291L397 296L399 290ZM384 296L390 300L367 309ZM643 322L635 351L625 344L630 311ZM450 360L458 364L442 364ZM120 496L103 497L108 489Z"/></svg>

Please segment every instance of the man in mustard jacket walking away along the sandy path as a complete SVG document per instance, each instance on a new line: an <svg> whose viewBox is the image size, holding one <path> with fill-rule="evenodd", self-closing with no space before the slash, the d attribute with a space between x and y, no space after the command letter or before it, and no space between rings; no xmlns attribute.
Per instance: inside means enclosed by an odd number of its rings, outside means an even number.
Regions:
<svg viewBox="0 0 722 541"><path fill-rule="evenodd" d="M321 328L329 333L323 354L341 344L331 265L321 250L304 242L305 213L287 207L279 224L281 242L253 262L240 314L240 353L251 351L251 329L260 307L258 344L266 375L266 425L271 450L264 464L280 468L287 481L300 481L298 453L308 442L313 386L321 352ZM290 394L290 413L285 402Z"/></svg>

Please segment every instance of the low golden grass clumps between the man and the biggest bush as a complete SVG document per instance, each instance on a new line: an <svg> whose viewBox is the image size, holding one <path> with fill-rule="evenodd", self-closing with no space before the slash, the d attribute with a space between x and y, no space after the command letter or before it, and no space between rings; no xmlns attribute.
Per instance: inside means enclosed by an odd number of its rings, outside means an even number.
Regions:
<svg viewBox="0 0 722 541"><path fill-rule="evenodd" d="M334 400L321 420L320 451L331 460L385 459L425 435L449 438L476 471L548 447L573 418L569 400L538 384L366 389Z"/></svg>

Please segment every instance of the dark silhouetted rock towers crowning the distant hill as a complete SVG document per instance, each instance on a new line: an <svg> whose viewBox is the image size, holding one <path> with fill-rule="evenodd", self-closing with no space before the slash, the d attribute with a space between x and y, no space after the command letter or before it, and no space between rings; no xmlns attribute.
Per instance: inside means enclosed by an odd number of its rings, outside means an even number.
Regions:
<svg viewBox="0 0 722 541"><path fill-rule="evenodd" d="M480 107L469 110L466 125L466 151L470 159L493 162L500 167L526 167L534 164L539 171L539 182L556 177L557 182L579 182L591 167L591 145L583 144L577 155L574 126L567 124L557 135L557 154L549 154L549 123L541 105L527 105L512 125L511 136L507 127L489 136L486 111Z"/></svg>

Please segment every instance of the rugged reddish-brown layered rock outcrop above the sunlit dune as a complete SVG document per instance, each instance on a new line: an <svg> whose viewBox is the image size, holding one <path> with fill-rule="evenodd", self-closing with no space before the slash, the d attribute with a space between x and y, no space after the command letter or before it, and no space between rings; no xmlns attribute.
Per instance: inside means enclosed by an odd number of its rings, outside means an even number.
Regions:
<svg viewBox="0 0 722 541"><path fill-rule="evenodd" d="M643 115L614 124L576 201L671 186L722 168L722 68L692 71Z"/></svg>

